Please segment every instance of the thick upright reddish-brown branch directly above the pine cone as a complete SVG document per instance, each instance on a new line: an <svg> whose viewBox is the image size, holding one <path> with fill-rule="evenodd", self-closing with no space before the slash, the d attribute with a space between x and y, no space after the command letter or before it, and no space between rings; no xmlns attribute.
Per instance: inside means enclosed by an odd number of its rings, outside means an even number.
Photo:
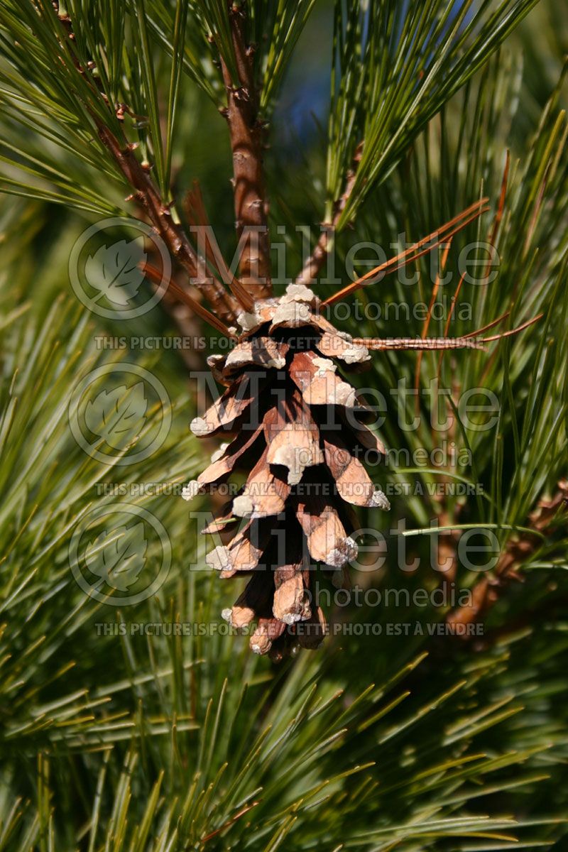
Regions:
<svg viewBox="0 0 568 852"><path fill-rule="evenodd" d="M244 9L229 10L238 81L225 62L221 68L227 89L227 118L232 148L233 193L238 238L244 235L239 258L241 283L254 299L272 296L267 197L262 168L264 128L258 118L253 48L244 37ZM237 84L235 84L237 83Z"/></svg>

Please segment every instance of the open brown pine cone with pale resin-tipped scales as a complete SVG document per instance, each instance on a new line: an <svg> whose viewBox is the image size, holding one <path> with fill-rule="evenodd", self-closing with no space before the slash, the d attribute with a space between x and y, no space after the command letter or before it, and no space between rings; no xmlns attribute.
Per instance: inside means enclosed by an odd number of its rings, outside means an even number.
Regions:
<svg viewBox="0 0 568 852"><path fill-rule="evenodd" d="M209 358L227 390L191 424L198 437L232 440L186 486L186 499L227 483L235 469L249 471L204 530L230 535L206 561L221 578L250 576L222 614L238 628L255 622L250 648L273 659L322 642L327 625L314 604L314 568L321 563L335 584L347 581L347 563L358 552L352 505L389 508L358 458L384 447L335 363L357 369L369 353L318 307L311 290L290 285L281 298L258 302L254 314L241 314L238 344L227 357Z"/></svg>

